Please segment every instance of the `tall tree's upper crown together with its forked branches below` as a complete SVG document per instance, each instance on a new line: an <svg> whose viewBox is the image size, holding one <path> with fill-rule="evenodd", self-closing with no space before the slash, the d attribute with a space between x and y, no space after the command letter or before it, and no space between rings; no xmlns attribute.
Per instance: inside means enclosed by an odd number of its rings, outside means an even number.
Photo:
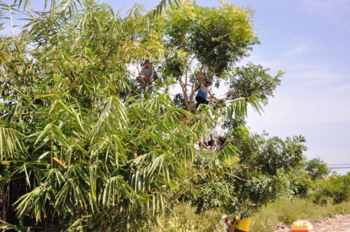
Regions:
<svg viewBox="0 0 350 232"><path fill-rule="evenodd" d="M228 79L226 72L259 43L252 17L251 8L228 2L204 8L183 1L169 10L165 17L167 52L161 71L179 82L188 111L193 108L196 88L205 78Z"/></svg>

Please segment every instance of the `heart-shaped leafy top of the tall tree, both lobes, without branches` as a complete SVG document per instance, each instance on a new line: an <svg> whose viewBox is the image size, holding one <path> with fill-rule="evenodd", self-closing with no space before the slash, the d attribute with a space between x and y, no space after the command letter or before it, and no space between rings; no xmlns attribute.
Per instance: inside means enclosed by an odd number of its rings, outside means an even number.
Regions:
<svg viewBox="0 0 350 232"><path fill-rule="evenodd" d="M209 71L222 73L248 56L251 45L258 43L251 17L253 10L235 7L232 3L204 8L184 2L166 19L168 45L188 52L190 57L195 55Z"/></svg>

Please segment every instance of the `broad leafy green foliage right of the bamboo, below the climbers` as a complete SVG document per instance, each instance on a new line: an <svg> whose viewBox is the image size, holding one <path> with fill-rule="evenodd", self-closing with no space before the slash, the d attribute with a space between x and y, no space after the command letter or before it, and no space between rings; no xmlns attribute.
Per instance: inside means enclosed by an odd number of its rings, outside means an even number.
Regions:
<svg viewBox="0 0 350 232"><path fill-rule="evenodd" d="M243 126L228 134L228 147L234 152L220 164L207 164L210 156L197 157L202 178L196 185L200 197L193 203L198 212L221 207L226 212L258 210L261 205L280 196L297 194L297 181L302 173L304 150L303 137L265 138L251 134ZM225 151L223 151L225 152Z"/></svg>

